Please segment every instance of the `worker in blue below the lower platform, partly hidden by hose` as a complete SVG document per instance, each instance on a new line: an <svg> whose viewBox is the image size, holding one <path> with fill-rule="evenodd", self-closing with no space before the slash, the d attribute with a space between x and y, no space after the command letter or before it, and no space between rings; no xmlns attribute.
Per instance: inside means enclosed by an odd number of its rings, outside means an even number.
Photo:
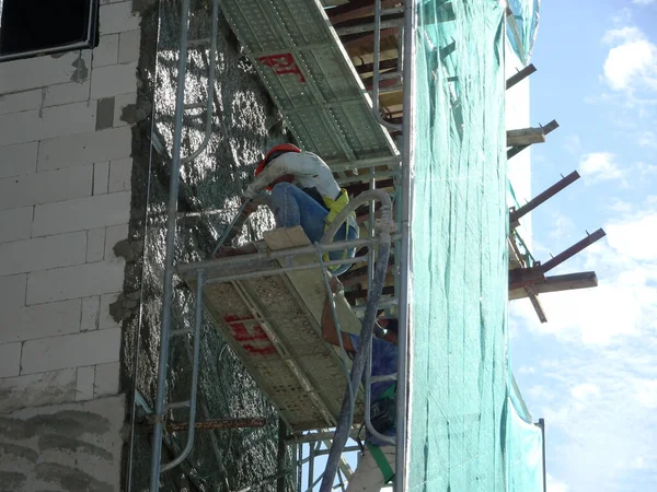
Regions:
<svg viewBox="0 0 657 492"><path fill-rule="evenodd" d="M342 291L337 278L331 279L331 291L335 295ZM397 368L397 327L399 323L392 318L377 320L378 336L372 338L372 376L387 376L396 373ZM383 333L384 331L384 333ZM342 344L348 353L356 352L358 337L350 333L341 333ZM331 300L326 297L322 312L322 336L328 343L339 347L337 330L333 321ZM393 380L380 382L371 385L371 422L373 427L385 436L394 436L394 405L395 388ZM358 460L358 466L349 479L346 492L379 492L381 488L394 478L396 448L379 440L369 431L366 433L366 447Z"/></svg>

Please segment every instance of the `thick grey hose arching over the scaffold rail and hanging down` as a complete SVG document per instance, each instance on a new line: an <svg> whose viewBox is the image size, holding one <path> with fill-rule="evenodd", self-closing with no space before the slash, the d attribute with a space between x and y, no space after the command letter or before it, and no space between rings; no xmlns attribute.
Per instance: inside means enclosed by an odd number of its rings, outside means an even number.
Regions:
<svg viewBox="0 0 657 492"><path fill-rule="evenodd" d="M388 271L391 241L390 233L394 229L390 197L382 190L369 190L360 194L343 209L343 211L335 218L335 221L331 224L331 227L328 227L328 230L326 230L324 233L324 237L322 237L322 243L325 244L331 242L342 223L347 220L347 216L360 204L364 204L372 199L379 199L382 202L381 220L377 224L377 232L379 232L379 237L381 239L379 244L379 255L374 269L374 278L369 288L365 318L362 319L362 327L358 338L359 349L356 352L356 356L354 358L354 362L351 364L350 385L347 386L345 396L343 398L343 405L335 429L333 443L331 444L331 452L326 461L326 468L324 469L322 477L320 492L331 492L333 490L333 481L335 480L335 473L337 472L337 467L339 465L339 457L345 445L347 444L347 440L349 438L349 430L354 423L355 395L350 394L349 386L353 388L358 388L360 379L362 378L365 365L371 352L377 308L379 306L379 298L383 292L383 282Z"/></svg>

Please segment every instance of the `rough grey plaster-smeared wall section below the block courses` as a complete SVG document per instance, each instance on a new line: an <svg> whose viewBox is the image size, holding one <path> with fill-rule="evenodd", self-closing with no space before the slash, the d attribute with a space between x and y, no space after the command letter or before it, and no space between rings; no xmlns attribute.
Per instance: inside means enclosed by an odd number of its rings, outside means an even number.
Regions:
<svg viewBox="0 0 657 492"><path fill-rule="evenodd" d="M123 396L0 415L0 491L118 491Z"/></svg>

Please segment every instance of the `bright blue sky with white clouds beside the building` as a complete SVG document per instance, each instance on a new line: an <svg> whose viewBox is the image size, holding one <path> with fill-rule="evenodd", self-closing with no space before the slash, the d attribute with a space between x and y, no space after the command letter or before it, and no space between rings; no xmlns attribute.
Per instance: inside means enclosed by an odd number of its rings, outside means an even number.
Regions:
<svg viewBox="0 0 657 492"><path fill-rule="evenodd" d="M548 259L608 236L551 273L596 270L599 286L545 294L549 323L510 306L514 368L548 427L550 492L657 490L657 0L543 1L531 120L533 195L581 179L533 212Z"/></svg>

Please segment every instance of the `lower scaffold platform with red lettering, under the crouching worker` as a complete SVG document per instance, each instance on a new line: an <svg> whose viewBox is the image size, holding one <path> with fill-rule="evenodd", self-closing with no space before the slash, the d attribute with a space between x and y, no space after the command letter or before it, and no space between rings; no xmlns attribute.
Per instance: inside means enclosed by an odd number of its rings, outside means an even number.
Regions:
<svg viewBox="0 0 657 492"><path fill-rule="evenodd" d="M215 327L249 374L278 409L290 432L335 426L347 385L345 363L322 339L321 317L326 291L316 255L289 261L268 259L268 251L308 246L299 226L265 233L262 255L178 266L196 290L196 271L205 270L203 305ZM253 261L249 261L253 257ZM304 270L280 270L314 263ZM262 274L264 273L264 274ZM336 313L345 331L360 331L360 320L343 295ZM362 391L355 422L362 422Z"/></svg>

